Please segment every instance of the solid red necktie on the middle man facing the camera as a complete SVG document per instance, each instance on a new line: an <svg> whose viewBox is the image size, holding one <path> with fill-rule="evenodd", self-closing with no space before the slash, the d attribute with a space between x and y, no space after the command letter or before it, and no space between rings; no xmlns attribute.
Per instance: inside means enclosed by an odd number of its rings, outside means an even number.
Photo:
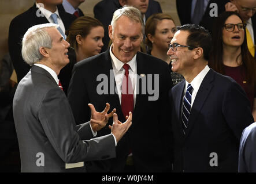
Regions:
<svg viewBox="0 0 256 184"><path fill-rule="evenodd" d="M129 116L129 112L133 112L133 89L132 81L129 78L129 67L129 64L124 64L123 66L125 74L122 82L121 108L124 117Z"/></svg>

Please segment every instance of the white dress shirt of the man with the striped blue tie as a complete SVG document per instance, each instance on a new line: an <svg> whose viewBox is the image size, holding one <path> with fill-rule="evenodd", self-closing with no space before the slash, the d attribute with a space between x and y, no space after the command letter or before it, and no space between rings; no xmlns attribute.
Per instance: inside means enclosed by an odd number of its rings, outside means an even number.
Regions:
<svg viewBox="0 0 256 184"><path fill-rule="evenodd" d="M210 70L209 66L206 65L205 68L203 68L203 70L198 75L196 75L196 77L190 83L191 86L193 87L192 96L191 96L191 108L192 108L192 105L195 101L195 97L196 97L196 94L199 90L199 87L201 86L201 83L202 83L203 79L205 78L205 75L207 74L207 72L209 72L209 70ZM185 92L187 90L187 86L188 86L188 82L185 81L185 89L183 91L183 96L185 95Z"/></svg>

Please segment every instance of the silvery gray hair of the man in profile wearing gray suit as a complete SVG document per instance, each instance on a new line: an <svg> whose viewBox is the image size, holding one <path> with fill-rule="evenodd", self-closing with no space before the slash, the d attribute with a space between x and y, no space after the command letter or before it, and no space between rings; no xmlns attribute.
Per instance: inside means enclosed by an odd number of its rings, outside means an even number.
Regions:
<svg viewBox="0 0 256 184"><path fill-rule="evenodd" d="M42 59L40 47L51 48L52 46L52 39L46 28L58 28L58 25L52 23L35 25L24 34L21 54L30 66Z"/></svg>

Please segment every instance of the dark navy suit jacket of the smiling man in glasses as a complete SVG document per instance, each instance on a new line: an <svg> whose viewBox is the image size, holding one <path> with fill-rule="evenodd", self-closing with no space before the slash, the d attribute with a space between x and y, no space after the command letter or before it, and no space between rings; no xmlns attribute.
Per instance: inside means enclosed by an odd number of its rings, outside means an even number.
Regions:
<svg viewBox="0 0 256 184"><path fill-rule="evenodd" d="M173 171L237 172L240 136L254 122L246 93L233 79L210 69L196 94L183 136L184 86L182 81L169 92L175 145ZM210 166L211 153L217 154L217 167Z"/></svg>

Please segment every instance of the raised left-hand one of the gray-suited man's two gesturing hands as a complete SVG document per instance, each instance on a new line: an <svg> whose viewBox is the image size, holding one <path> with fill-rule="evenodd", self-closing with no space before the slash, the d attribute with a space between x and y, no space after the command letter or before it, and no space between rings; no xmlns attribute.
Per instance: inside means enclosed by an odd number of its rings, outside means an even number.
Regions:
<svg viewBox="0 0 256 184"><path fill-rule="evenodd" d="M116 109L113 109L111 113L107 114L107 112L110 109L109 103L106 103L105 109L99 113L95 110L94 105L88 104L88 106L91 109L91 128L94 132L99 131L103 127L106 126L107 121L109 121L109 118L113 116L113 114L116 112Z"/></svg>

